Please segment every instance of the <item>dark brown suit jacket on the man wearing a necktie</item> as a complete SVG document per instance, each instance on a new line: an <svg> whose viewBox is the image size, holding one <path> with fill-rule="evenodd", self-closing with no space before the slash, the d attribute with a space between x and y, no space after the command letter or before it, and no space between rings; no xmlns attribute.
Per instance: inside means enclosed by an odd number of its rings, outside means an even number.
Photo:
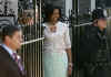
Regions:
<svg viewBox="0 0 111 77"><path fill-rule="evenodd" d="M0 46L0 77L26 77L2 46Z"/></svg>

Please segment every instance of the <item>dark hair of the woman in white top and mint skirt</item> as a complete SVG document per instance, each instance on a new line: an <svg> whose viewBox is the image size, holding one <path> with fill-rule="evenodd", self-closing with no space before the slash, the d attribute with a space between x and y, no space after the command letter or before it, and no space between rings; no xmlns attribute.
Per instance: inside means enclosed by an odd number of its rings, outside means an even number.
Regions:
<svg viewBox="0 0 111 77"><path fill-rule="evenodd" d="M61 18L61 8L60 7L56 7L52 4L47 4L44 8L44 22L49 22L50 21L50 16L53 14L53 11L58 9L59 10L59 14Z"/></svg>

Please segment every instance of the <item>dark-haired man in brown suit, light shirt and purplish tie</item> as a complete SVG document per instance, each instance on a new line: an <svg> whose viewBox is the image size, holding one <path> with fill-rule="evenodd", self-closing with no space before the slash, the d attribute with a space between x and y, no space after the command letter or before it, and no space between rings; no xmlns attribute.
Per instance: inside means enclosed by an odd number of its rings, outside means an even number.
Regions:
<svg viewBox="0 0 111 77"><path fill-rule="evenodd" d="M21 29L13 25L6 25L2 29L2 44L0 45L0 77L26 77L23 67L17 55L21 47Z"/></svg>

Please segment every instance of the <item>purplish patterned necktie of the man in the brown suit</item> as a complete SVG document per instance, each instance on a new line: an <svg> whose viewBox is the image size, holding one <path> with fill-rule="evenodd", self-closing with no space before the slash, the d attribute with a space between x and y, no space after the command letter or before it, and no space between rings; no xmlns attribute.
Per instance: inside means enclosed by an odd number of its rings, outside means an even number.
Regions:
<svg viewBox="0 0 111 77"><path fill-rule="evenodd" d="M21 64L21 58L17 53L13 53L13 59L16 61L16 63L18 64L19 69L21 70L22 75L24 75L24 68Z"/></svg>

